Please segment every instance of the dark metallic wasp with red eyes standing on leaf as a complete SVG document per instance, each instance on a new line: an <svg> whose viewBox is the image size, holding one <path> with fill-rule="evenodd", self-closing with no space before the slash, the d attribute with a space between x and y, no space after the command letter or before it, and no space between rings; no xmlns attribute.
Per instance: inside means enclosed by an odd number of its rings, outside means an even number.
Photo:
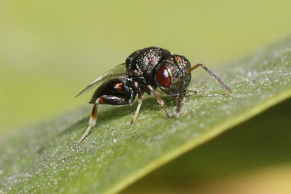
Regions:
<svg viewBox="0 0 291 194"><path fill-rule="evenodd" d="M191 72L199 66L220 82L228 92L231 92L231 88L211 70L202 64L192 67L189 60L182 55L171 54L168 50L160 47L148 47L133 52L127 57L125 63L101 75L76 95L78 97L101 84L89 101L89 103L94 104L89 126L74 145L77 146L96 125L99 104L132 105L137 96L138 105L131 120L132 125L139 114L144 93L153 94L167 117L170 118L164 101L155 91L157 88L178 99L175 112L175 116L178 117L181 102L191 80Z"/></svg>

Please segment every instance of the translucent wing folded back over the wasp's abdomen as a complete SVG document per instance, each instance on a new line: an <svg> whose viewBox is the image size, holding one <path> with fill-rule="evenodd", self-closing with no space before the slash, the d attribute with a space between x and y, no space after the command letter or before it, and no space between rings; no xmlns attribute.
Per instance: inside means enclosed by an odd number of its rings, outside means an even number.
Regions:
<svg viewBox="0 0 291 194"><path fill-rule="evenodd" d="M114 78L125 78L129 75L129 73L126 71L125 63L121 63L120 65L114 67L113 69L109 70L105 74L98 77L96 80L94 80L92 83L90 83L83 91L81 91L79 94L77 94L75 97L81 96L85 92L91 90L98 84Z"/></svg>

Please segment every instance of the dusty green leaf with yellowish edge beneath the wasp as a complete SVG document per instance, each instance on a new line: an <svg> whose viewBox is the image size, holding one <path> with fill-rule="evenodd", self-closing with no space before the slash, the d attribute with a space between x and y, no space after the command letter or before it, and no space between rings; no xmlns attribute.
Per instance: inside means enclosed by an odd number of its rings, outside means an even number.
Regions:
<svg viewBox="0 0 291 194"><path fill-rule="evenodd" d="M227 93L202 68L192 72L181 116L167 119L151 95L133 126L137 106L100 105L97 125L74 148L88 126L91 106L1 137L2 193L116 193L152 170L291 96L291 38L214 72ZM213 70L213 69L212 69ZM201 76L200 76L201 75ZM86 84L86 83L84 83ZM161 95L170 114L175 101ZM86 101L86 100L84 100Z"/></svg>

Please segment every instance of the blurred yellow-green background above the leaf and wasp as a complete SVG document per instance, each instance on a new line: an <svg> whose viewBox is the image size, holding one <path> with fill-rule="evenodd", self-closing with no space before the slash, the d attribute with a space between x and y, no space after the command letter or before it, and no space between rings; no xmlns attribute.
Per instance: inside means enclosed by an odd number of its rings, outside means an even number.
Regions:
<svg viewBox="0 0 291 194"><path fill-rule="evenodd" d="M289 35L290 7L291 1L0 1L1 134L87 104L92 92L74 96L139 48L161 46L215 72Z"/></svg>

